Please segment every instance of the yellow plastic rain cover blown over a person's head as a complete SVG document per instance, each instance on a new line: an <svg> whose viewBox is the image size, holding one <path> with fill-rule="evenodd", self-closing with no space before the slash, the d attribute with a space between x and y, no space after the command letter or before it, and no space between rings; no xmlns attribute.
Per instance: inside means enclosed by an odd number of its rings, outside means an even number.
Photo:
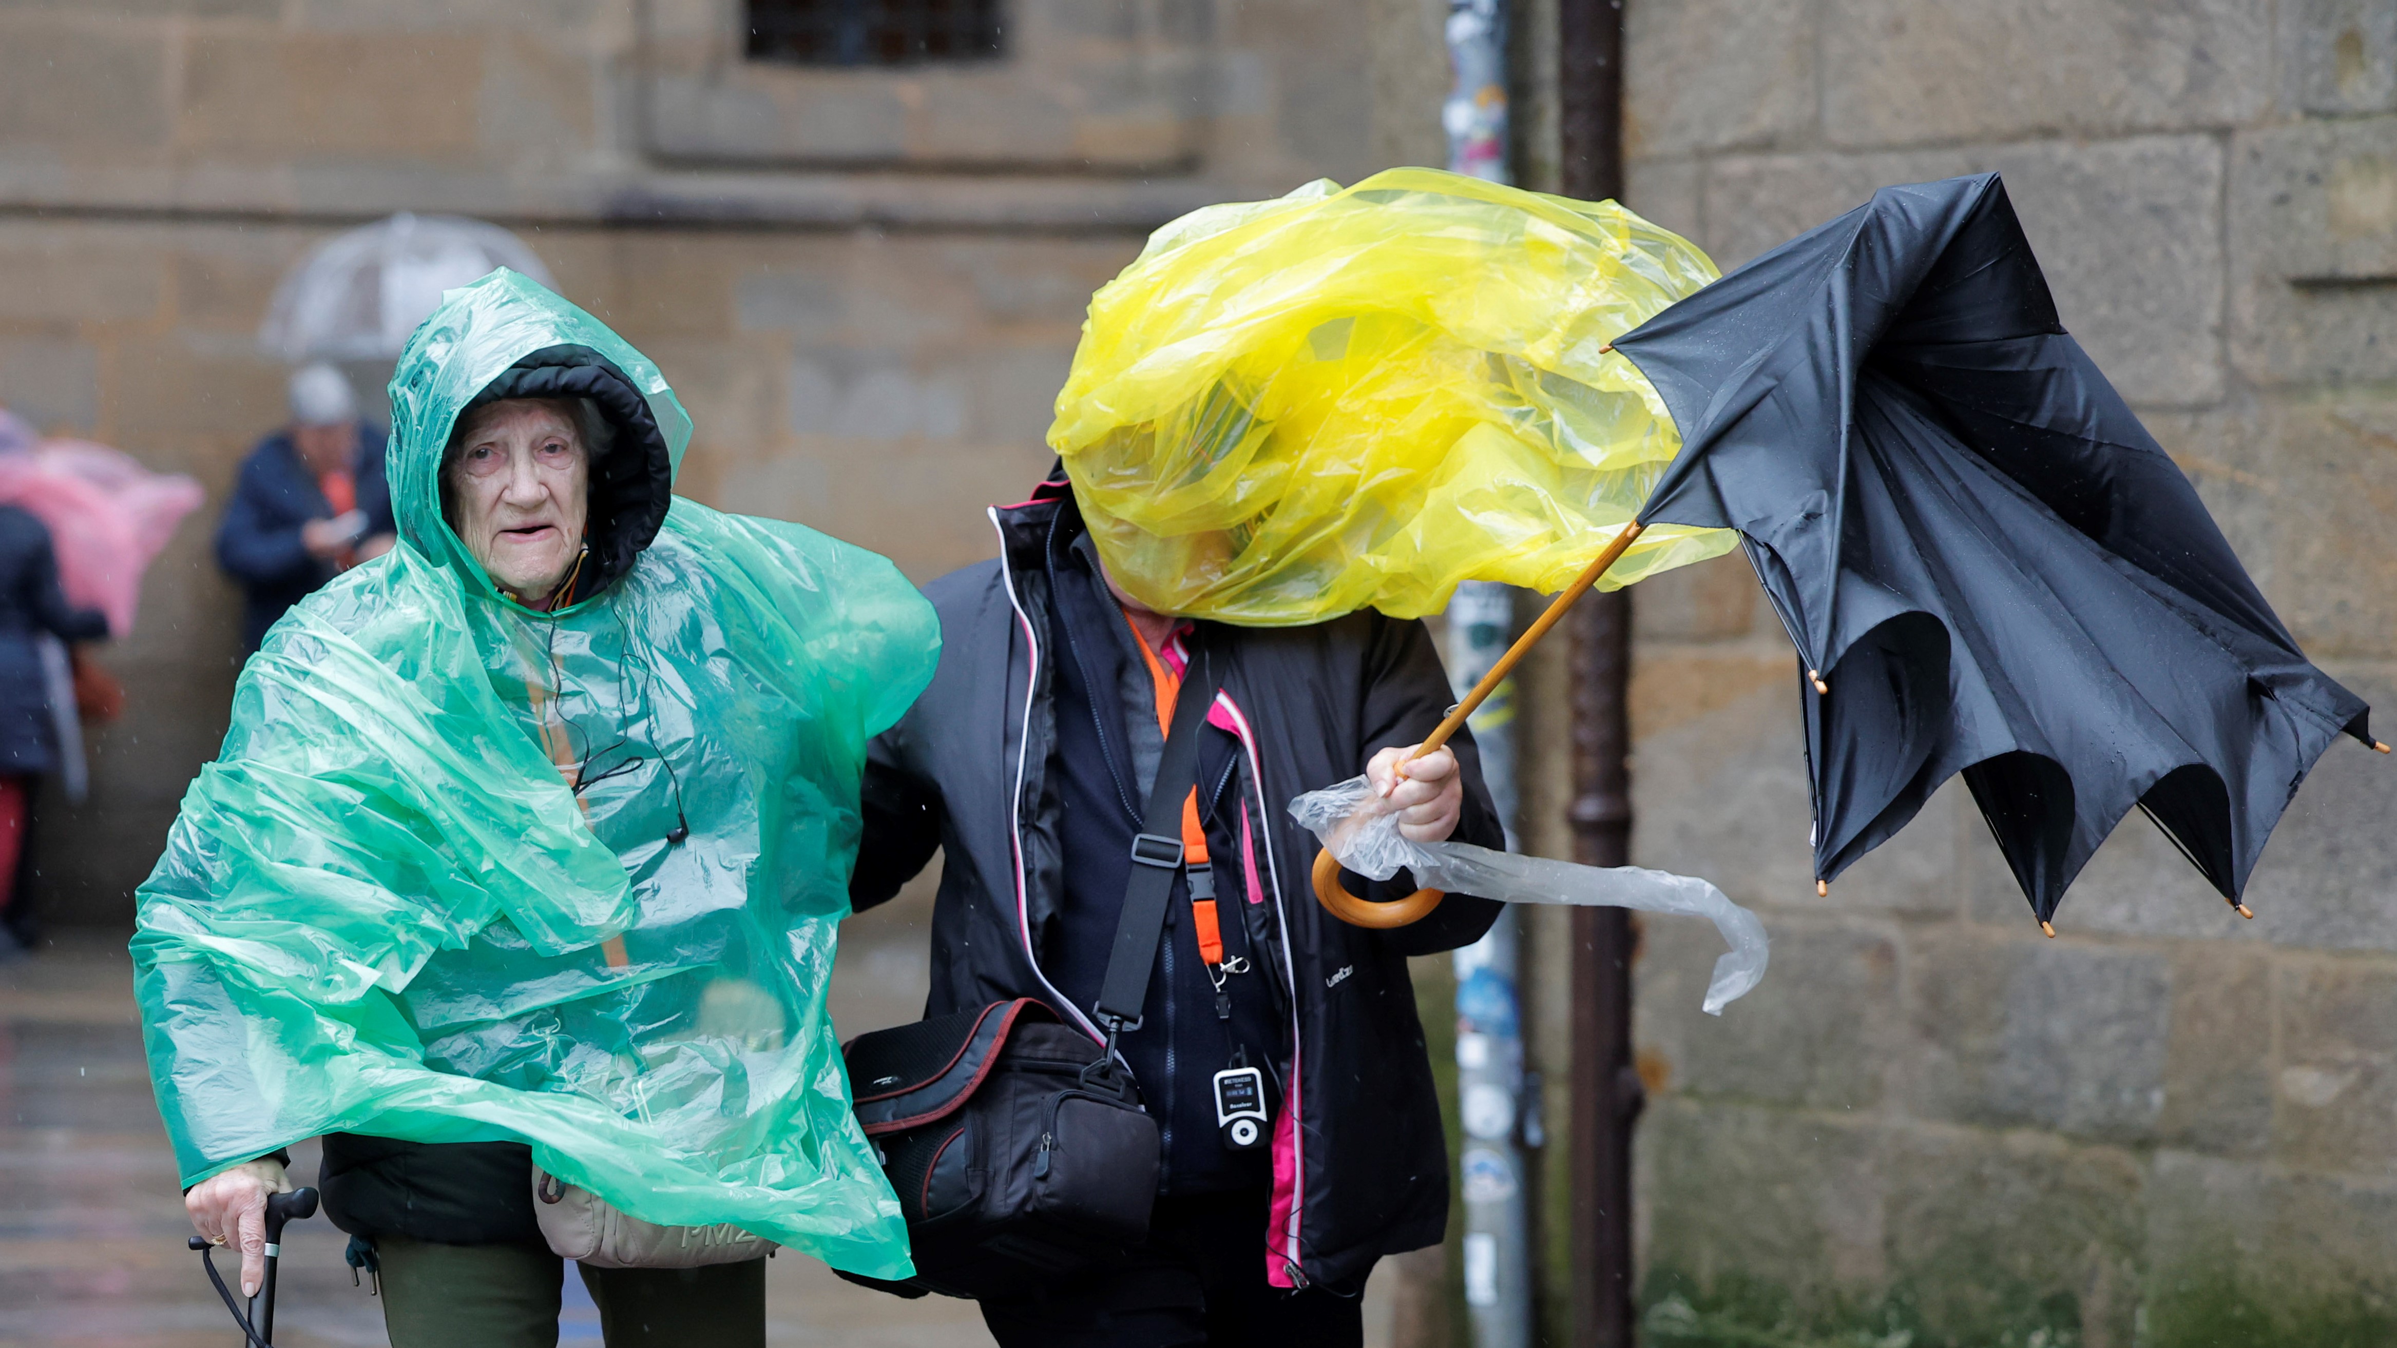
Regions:
<svg viewBox="0 0 2397 1348"><path fill-rule="evenodd" d="M1613 201L1429 168L1194 211L1091 297L1050 445L1115 579L1244 625L1563 589L1680 450L1606 345L1716 278ZM1656 524L1606 589L1731 551Z"/></svg>

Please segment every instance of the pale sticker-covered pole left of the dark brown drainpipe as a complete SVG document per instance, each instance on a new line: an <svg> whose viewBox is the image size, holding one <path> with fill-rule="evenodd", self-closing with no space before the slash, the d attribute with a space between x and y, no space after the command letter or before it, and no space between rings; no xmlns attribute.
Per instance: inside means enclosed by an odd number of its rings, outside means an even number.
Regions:
<svg viewBox="0 0 2397 1348"><path fill-rule="evenodd" d="M1505 0L1453 0L1441 105L1448 168L1508 182ZM1481 680L1515 634L1515 591L1465 582L1448 606L1448 668L1457 694ZM1508 848L1515 845L1515 680L1474 711L1474 745ZM1532 1223L1524 1144L1539 1113L1524 1109L1522 1008L1515 994L1515 910L1453 955L1457 972L1457 1113L1465 1197L1465 1310L1474 1348L1532 1346Z"/></svg>

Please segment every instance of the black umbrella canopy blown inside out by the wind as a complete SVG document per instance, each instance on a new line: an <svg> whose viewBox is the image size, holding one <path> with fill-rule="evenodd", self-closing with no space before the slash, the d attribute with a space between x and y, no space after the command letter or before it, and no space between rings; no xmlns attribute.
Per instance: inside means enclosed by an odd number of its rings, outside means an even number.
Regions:
<svg viewBox="0 0 2397 1348"><path fill-rule="evenodd" d="M2363 702L2057 321L1994 172L1886 187L1618 338L1807 670L1815 874L1951 773L2045 924L2133 804L2239 903ZM2244 912L2244 910L2241 910Z"/></svg>

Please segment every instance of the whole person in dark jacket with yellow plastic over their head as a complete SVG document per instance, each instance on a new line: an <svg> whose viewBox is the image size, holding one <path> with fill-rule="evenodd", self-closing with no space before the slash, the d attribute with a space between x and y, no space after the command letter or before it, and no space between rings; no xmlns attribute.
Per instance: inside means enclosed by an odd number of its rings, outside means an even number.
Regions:
<svg viewBox="0 0 2397 1348"><path fill-rule="evenodd" d="M1462 579L1560 589L1620 532L1678 441L1608 342L1711 278L1620 206L1390 170L1194 211L1091 297L1057 469L990 512L995 563L928 587L940 673L875 742L853 881L863 907L937 848L928 1015L1021 996L1112 1025L1163 1133L1146 1243L985 1298L1004 1348L1359 1343L1376 1259L1443 1238L1407 955L1496 905L1335 919L1290 804L1364 773L1405 838L1501 845L1469 733L1407 761L1455 702L1417 618ZM1733 546L1644 541L1625 579ZM1177 852L1143 802L1210 675ZM1127 874L1167 862L1124 1006L1103 972ZM1249 1070L1244 1133L1210 1085Z"/></svg>

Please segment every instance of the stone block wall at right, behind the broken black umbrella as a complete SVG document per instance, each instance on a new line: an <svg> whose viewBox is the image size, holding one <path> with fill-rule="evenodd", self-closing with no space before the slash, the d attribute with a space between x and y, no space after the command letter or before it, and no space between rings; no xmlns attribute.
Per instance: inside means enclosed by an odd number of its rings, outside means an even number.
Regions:
<svg viewBox="0 0 2397 1348"><path fill-rule="evenodd" d="M1630 206L1726 268L2001 170L2066 326L2306 651L2397 706L2397 7L1632 0ZM1654 1343L2397 1341L2397 766L2335 745L2253 922L2126 819L2040 939L1951 785L1815 898L1798 675L1726 558L1637 591ZM1781 1338L1776 1338L1781 1341ZM1841 1338L1841 1343L1862 1338ZM1879 1338L1874 1338L1879 1341Z"/></svg>

